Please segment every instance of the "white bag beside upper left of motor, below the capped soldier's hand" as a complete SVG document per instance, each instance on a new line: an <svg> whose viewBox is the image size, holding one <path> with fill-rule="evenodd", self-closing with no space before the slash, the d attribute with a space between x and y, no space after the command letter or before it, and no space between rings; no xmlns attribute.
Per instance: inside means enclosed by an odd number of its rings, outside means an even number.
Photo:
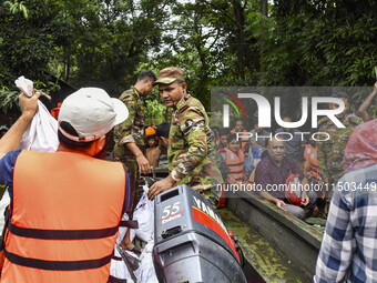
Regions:
<svg viewBox="0 0 377 283"><path fill-rule="evenodd" d="M150 242L154 239L154 201L147 199L149 188L143 185L143 189L144 194L133 212L133 220L137 220L139 223L139 229L135 230L136 236L144 242Z"/></svg>

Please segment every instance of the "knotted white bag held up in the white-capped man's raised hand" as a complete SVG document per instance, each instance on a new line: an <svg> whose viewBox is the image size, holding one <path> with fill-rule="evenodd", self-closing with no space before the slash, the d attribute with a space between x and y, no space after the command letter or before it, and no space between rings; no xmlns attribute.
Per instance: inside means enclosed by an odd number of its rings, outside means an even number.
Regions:
<svg viewBox="0 0 377 283"><path fill-rule="evenodd" d="M33 82L23 75L16 80L16 85L28 97L33 95ZM58 122L42 102L38 101L38 112L23 133L20 149L40 152L55 152L59 145Z"/></svg>

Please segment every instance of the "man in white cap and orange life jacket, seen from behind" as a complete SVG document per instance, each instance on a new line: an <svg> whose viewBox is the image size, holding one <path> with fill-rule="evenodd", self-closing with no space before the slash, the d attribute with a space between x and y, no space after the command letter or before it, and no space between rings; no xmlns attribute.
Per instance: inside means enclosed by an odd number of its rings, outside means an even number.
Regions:
<svg viewBox="0 0 377 283"><path fill-rule="evenodd" d="M61 105L55 153L17 150L38 97L20 94L22 114L0 140L0 183L11 198L1 282L108 282L129 176L122 163L94 156L128 109L102 89L80 89Z"/></svg>

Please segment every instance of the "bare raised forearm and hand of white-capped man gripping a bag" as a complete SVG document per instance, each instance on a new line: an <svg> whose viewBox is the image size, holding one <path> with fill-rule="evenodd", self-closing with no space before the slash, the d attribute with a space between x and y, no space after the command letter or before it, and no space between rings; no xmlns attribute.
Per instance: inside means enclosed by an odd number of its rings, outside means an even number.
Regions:
<svg viewBox="0 0 377 283"><path fill-rule="evenodd" d="M19 101L22 109L21 117L16 121L16 123L9 129L9 131L0 140L0 159L8 152L17 150L20 145L21 138L24 131L30 125L33 117L38 110L38 98L40 92L37 91L34 95L28 98L26 94L21 93L19 95Z"/></svg>

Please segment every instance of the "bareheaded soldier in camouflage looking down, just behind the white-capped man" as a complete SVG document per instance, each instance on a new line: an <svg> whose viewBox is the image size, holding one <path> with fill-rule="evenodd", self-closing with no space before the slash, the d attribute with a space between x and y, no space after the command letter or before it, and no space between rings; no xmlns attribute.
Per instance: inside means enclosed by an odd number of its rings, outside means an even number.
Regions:
<svg viewBox="0 0 377 283"><path fill-rule="evenodd" d="M128 214L132 219L133 210L142 195L139 189L140 173L150 173L151 166L144 155L144 98L153 90L155 74L142 71L134 87L124 91L119 98L129 109L129 118L114 127L113 159L121 161L130 176L130 204ZM122 247L134 250L128 233L121 244ZM137 252L137 251L136 251Z"/></svg>

